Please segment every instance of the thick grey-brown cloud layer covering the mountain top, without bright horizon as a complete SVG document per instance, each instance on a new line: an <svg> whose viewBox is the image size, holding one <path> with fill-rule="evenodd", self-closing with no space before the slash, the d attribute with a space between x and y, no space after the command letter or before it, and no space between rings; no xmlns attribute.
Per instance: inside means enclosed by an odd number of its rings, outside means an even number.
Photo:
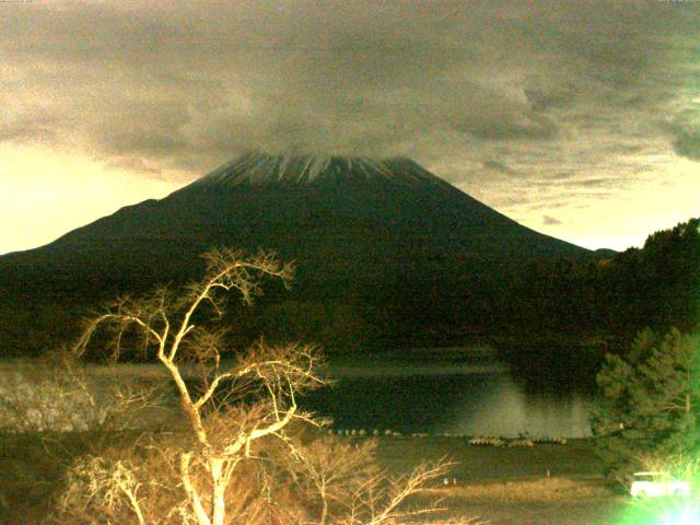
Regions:
<svg viewBox="0 0 700 525"><path fill-rule="evenodd" d="M700 19L633 0L1 9L0 141L192 177L247 149L404 154L455 182L668 140L658 122L691 104L684 35ZM680 115L670 140L698 159L698 119Z"/></svg>

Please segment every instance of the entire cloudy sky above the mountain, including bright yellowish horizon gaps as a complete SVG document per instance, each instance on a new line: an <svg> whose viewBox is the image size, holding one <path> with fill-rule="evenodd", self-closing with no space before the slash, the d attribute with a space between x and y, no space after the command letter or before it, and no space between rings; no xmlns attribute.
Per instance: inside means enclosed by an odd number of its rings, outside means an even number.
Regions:
<svg viewBox="0 0 700 525"><path fill-rule="evenodd" d="M249 149L623 249L700 215L700 1L0 1L0 254Z"/></svg>

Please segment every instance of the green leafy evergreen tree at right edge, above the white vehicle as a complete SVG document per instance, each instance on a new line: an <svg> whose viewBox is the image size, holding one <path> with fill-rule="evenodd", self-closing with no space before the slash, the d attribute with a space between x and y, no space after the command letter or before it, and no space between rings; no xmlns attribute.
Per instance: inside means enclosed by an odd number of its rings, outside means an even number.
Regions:
<svg viewBox="0 0 700 525"><path fill-rule="evenodd" d="M627 358L608 354L591 425L606 475L627 479L646 459L700 444L700 338L642 330Z"/></svg>

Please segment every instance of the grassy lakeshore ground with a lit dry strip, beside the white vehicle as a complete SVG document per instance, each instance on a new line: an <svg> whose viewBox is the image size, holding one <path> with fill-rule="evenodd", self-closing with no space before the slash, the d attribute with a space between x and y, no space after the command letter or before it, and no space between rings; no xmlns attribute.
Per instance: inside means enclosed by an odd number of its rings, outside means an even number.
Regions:
<svg viewBox="0 0 700 525"><path fill-rule="evenodd" d="M490 525L615 525L630 503L605 482L586 440L481 447L466 439L383 439L377 460L398 474L441 457L455 465L425 497L442 500L445 517L471 516Z"/></svg>

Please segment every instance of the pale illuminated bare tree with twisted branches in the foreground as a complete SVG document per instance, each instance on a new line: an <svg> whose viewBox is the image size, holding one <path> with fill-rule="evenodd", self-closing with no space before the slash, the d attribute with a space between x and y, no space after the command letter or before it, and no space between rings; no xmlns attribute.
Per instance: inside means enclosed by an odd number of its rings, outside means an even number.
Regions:
<svg viewBox="0 0 700 525"><path fill-rule="evenodd" d="M299 411L296 395L323 384L314 374L318 357L311 346L258 343L226 365L222 359L223 332L195 323L205 306L221 314L225 292L237 290L244 301L250 302L260 294L262 276L287 283L292 277L292 267L270 254L248 258L230 249L211 250L207 254L203 281L191 284L184 296L174 296L161 289L140 300L121 299L90 322L75 346L77 351L83 353L95 331L106 327L114 335L115 360L119 358L125 336L132 332L144 352L155 351L177 388L195 438L195 446L179 455L179 475L190 511L200 525L224 525L226 487L236 466L250 456L252 442L267 435L283 439L282 430L294 419L310 420ZM188 378L198 380L198 385L189 386ZM238 400L253 389L262 389L266 400L258 400L254 407L238 404L225 416L206 418L209 405L223 388ZM196 464L209 475L208 490L195 482Z"/></svg>

